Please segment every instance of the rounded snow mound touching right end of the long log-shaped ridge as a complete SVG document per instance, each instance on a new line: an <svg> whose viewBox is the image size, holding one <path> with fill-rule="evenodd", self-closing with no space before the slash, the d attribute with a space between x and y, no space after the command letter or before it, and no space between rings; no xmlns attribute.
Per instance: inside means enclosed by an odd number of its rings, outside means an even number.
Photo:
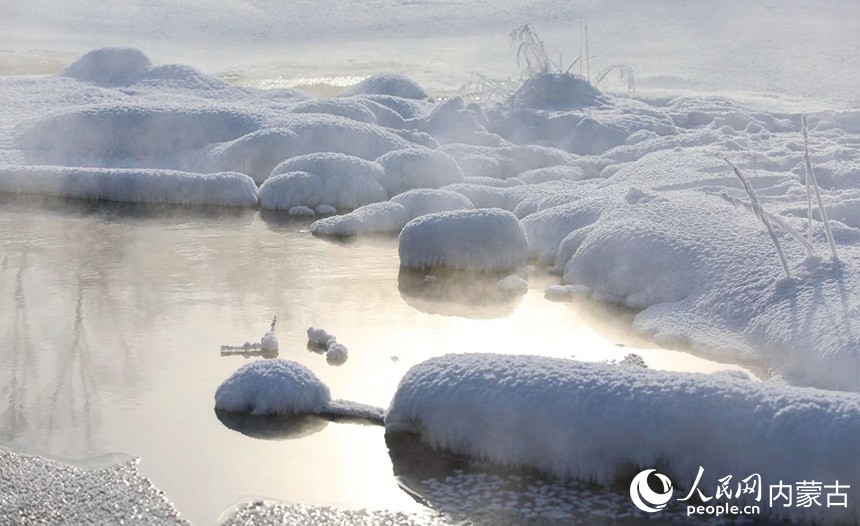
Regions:
<svg viewBox="0 0 860 526"><path fill-rule="evenodd" d="M272 171L260 187L263 208L289 210L327 204L340 209L384 201L388 194L377 182L382 167L372 161L340 153L293 157Z"/></svg>

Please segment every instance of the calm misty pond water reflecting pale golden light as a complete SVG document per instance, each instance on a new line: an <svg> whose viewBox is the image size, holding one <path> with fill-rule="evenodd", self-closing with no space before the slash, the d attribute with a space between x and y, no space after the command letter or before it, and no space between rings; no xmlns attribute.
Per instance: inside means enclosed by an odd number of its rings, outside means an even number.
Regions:
<svg viewBox="0 0 860 526"><path fill-rule="evenodd" d="M636 352L657 368L728 368L648 348L627 329L629 313L546 301L554 281L540 272L522 297L498 296L494 280L440 275L430 287L399 271L394 238L332 243L306 228L253 211L4 199L0 441L140 456L143 474L198 524L253 496L415 510L382 428L220 421L215 388L247 363L220 346L259 340L277 315L280 357L310 367L334 397L382 407L410 366L449 352ZM310 325L349 347L345 365L306 348Z"/></svg>

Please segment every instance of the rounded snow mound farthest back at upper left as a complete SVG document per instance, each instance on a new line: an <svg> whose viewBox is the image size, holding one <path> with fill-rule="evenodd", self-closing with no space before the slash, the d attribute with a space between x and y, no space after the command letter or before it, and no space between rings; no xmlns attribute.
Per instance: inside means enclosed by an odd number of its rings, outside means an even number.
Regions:
<svg viewBox="0 0 860 526"><path fill-rule="evenodd" d="M133 48L101 48L84 54L60 72L61 76L99 86L129 86L152 67L149 57Z"/></svg>

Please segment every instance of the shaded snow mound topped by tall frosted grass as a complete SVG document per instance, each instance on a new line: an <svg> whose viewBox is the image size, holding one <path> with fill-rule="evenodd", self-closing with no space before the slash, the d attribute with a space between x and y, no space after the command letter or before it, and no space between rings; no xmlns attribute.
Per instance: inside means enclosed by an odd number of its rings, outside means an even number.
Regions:
<svg viewBox="0 0 860 526"><path fill-rule="evenodd" d="M590 82L570 73L539 73L523 82L508 100L512 108L569 110L608 102Z"/></svg>

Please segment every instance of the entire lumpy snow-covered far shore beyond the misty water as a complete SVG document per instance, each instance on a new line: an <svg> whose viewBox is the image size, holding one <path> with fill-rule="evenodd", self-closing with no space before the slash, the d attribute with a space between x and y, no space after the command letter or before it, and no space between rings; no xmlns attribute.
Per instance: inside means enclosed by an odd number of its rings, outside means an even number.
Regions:
<svg viewBox="0 0 860 526"><path fill-rule="evenodd" d="M0 188L138 202L259 200L296 215L355 209L314 223L317 235L396 233L429 213L465 218L497 208L519 220L528 257L550 265L573 294L640 309L635 326L657 343L762 363L796 385L860 390L860 329L850 322L860 308L856 112L810 116L811 160L841 260L827 261L816 216L820 256L778 232L793 266L784 279L756 218L721 197L746 198L722 157L748 173L771 214L804 232L798 114L717 97L649 104L542 99L539 91L513 107L458 97L436 104L407 98L426 92L405 77L376 79L312 99L152 65L130 49L94 51L57 76L0 78L12 102L0 120L8 137ZM234 173L208 175L223 171ZM466 232L459 221L446 228ZM406 226L404 265L525 262L522 240L501 241L500 226L477 227L467 241L435 232L441 225L422 227L411 245ZM478 256L492 239L507 255ZM509 263L497 267L500 257Z"/></svg>

